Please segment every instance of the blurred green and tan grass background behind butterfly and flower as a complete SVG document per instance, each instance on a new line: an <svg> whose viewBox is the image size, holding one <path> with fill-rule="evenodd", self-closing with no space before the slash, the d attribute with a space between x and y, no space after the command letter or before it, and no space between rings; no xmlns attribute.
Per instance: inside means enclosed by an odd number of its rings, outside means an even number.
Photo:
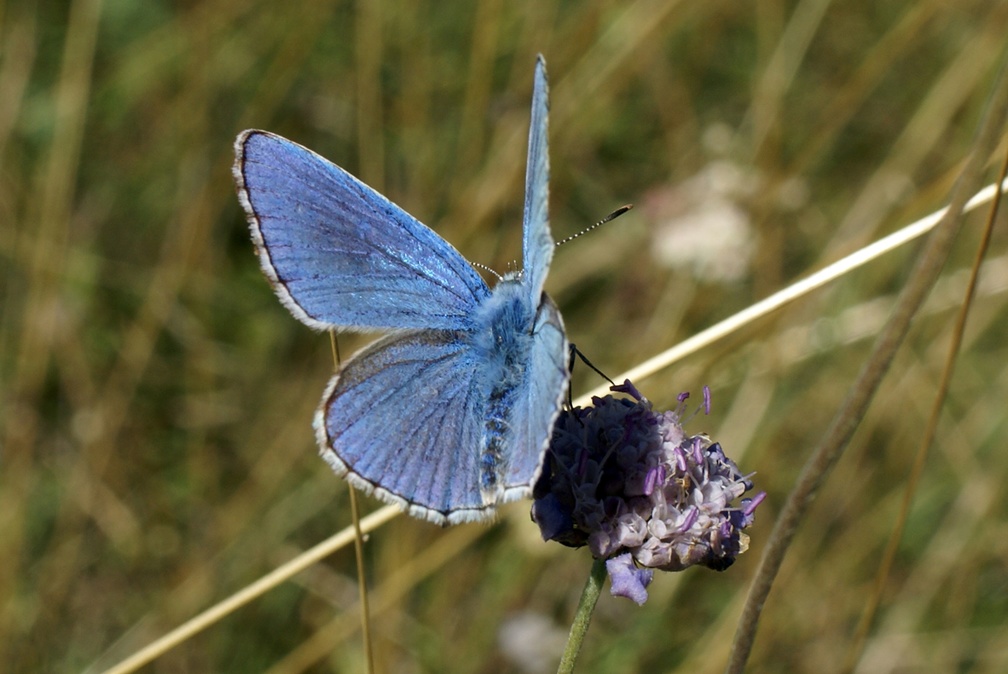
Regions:
<svg viewBox="0 0 1008 674"><path fill-rule="evenodd" d="M310 428L329 340L259 272L240 130L317 150L506 270L541 51L554 236L638 207L561 248L547 282L615 377L939 208L1006 34L1008 3L979 0L0 3L4 671L99 671L349 523ZM751 671L847 656L981 220L799 532ZM727 572L659 575L644 608L604 595L580 671L723 668L776 509L914 248L637 382L663 407L710 385L691 428L769 498ZM1008 670L1005 254L1002 228L861 671ZM582 369L575 393L597 384ZM537 536L524 503L373 535L379 669L555 668L591 562ZM361 671L356 599L347 550L146 671Z"/></svg>

